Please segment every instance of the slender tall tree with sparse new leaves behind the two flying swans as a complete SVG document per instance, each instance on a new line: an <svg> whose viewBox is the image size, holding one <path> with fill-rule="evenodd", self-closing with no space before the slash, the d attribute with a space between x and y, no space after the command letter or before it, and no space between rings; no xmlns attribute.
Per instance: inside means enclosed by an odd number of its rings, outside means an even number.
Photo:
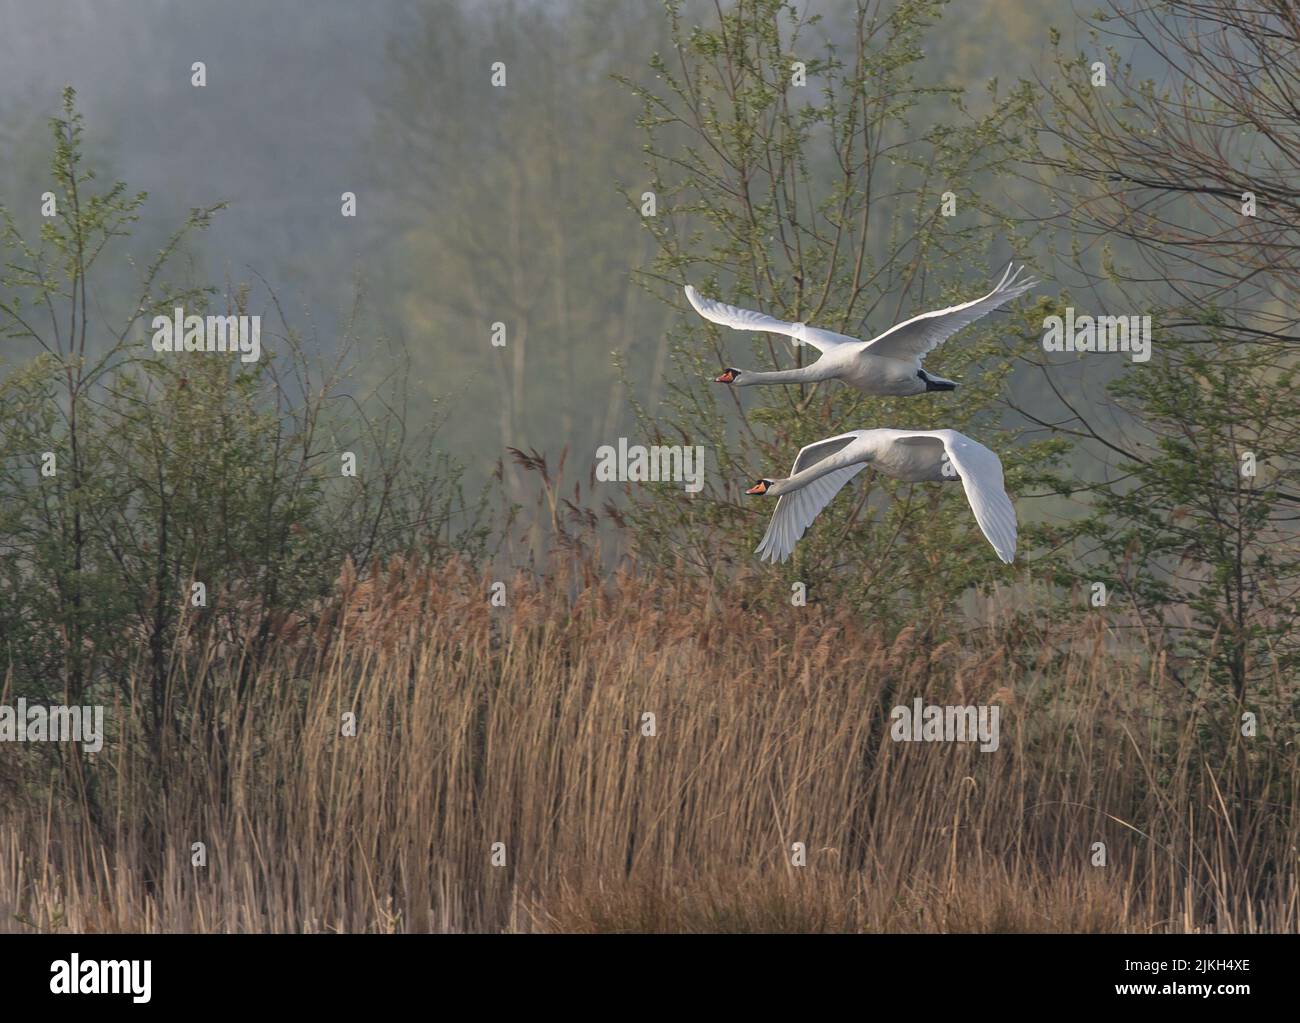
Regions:
<svg viewBox="0 0 1300 1023"><path fill-rule="evenodd" d="M681 4L667 8L672 47L653 60L654 87L628 82L644 104L659 195L660 216L645 221L656 242L647 286L679 308L689 282L866 337L988 289L1013 225L976 186L1008 159L1001 135L1017 108L994 100L974 116L959 90L927 83L923 43L944 4L859 3L846 44L818 38L818 18L783 0L741 0L693 27ZM802 445L846 429L970 430L1001 455L1013 494L1060 452L1056 442L1020 445L1002 432L996 406L1015 350L1008 335L1024 333L1014 316L988 317L928 357L961 381L956 394L878 399L837 382L719 387L711 381L737 361L727 352L742 335L685 312L667 408L644 416L647 429L702 443L715 461L705 494L660 486L634 507L649 558L701 571L750 564L771 508L741 497L744 486L784 474ZM764 365L802 364L802 350L759 338L751 351ZM781 572L819 584L822 598L838 593L897 619L998 577L978 537L959 493L864 473Z"/></svg>

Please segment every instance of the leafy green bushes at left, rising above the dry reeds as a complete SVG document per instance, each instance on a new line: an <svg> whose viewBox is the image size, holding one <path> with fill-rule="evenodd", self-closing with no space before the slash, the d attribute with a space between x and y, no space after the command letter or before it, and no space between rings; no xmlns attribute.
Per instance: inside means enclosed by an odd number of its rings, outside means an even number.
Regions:
<svg viewBox="0 0 1300 1023"><path fill-rule="evenodd" d="M70 90L52 126L57 217L32 244L0 211L0 330L10 348L38 348L0 378L0 673L27 697L108 701L117 688L159 741L198 706L187 637L220 637L252 679L291 616L311 623L344 562L481 554L488 526L432 429L408 429L403 363L373 395L352 393L355 324L325 365L282 316L257 363L153 352L155 313L214 302L162 273L216 207L143 266L118 324L92 324L95 264L127 239L144 196L121 182L95 190ZM224 312L248 315L247 289ZM346 451L355 477L342 474ZM148 692L131 688L139 679Z"/></svg>

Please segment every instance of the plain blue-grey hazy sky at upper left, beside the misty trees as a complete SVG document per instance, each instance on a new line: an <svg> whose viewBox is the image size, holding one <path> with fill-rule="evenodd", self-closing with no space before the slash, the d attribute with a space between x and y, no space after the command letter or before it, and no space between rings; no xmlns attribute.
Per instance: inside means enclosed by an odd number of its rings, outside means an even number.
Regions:
<svg viewBox="0 0 1300 1023"><path fill-rule="evenodd" d="M73 84L92 159L151 194L146 220L173 226L218 200L200 250L220 281L248 266L322 316L367 260L374 218L343 221L338 196L376 200L365 153L385 45L411 4L351 0L0 0L0 123L43 120ZM208 87L190 84L194 61ZM48 151L48 149L47 149ZM13 203L12 178L0 188ZM343 240L343 239L337 239ZM322 256L325 257L322 260Z"/></svg>

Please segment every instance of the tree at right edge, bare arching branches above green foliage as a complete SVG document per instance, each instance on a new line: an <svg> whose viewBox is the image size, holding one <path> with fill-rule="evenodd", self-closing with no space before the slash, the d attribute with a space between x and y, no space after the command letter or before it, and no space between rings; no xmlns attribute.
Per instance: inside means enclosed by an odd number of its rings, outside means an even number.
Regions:
<svg viewBox="0 0 1300 1023"><path fill-rule="evenodd" d="M1053 77L1026 87L1030 160L1079 291L1156 324L1150 361L1112 385L1121 415L1056 389L1053 428L1110 456L1091 563L1175 667L1208 666L1188 684L1284 699L1300 664L1300 12L1115 3L1088 27L1086 52L1054 34Z"/></svg>

